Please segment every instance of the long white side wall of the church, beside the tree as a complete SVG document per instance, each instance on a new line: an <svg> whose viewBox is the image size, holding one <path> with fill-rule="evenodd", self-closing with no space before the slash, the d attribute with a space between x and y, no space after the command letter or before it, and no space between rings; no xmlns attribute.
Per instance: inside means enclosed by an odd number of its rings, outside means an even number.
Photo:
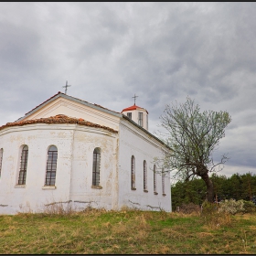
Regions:
<svg viewBox="0 0 256 256"><path fill-rule="evenodd" d="M165 176L165 195L162 192L162 176L156 175L154 194L154 157L161 155L162 144L149 134L124 121L120 125L119 152L119 208L171 211L170 178ZM131 189L131 157L135 157L135 188ZM147 163L147 190L144 192L144 160Z"/></svg>

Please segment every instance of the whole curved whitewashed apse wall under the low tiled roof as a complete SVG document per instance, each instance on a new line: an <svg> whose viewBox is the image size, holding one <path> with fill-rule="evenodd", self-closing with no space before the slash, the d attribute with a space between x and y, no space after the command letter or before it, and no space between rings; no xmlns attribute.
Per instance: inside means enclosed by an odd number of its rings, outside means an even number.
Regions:
<svg viewBox="0 0 256 256"><path fill-rule="evenodd" d="M77 126L37 123L0 131L0 148L4 149L0 177L0 214L41 211L46 208L46 204L69 200L72 203L95 201L97 203L93 207L112 208L112 197L117 201L117 196L113 196L116 189L111 182L116 176L113 157L116 135L96 128L82 127L76 130ZM24 144L28 146L26 186L16 186L21 146ZM51 144L58 148L54 189L44 186L48 147ZM92 153L95 147L102 149L102 189L91 188ZM75 202L73 206L82 208L86 204Z"/></svg>

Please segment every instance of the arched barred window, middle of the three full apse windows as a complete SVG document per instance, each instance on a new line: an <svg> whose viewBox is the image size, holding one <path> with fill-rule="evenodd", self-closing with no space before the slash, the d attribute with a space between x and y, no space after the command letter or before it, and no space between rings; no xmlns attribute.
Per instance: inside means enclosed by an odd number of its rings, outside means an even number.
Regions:
<svg viewBox="0 0 256 256"><path fill-rule="evenodd" d="M58 158L58 149L55 145L51 145L48 149L46 186L55 185L57 158Z"/></svg>

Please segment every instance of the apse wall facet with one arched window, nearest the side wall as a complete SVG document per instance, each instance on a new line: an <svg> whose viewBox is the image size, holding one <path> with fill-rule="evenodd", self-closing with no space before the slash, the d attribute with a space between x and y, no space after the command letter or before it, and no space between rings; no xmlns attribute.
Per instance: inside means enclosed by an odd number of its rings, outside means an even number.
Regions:
<svg viewBox="0 0 256 256"><path fill-rule="evenodd" d="M116 208L117 135L100 129L77 128L74 133L70 199L78 210ZM93 150L101 149L100 186L92 187Z"/></svg>

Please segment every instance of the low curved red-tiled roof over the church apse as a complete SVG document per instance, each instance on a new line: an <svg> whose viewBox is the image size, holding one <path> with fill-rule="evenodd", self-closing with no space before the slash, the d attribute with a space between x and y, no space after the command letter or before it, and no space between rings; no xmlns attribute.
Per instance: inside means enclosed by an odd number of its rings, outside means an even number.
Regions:
<svg viewBox="0 0 256 256"><path fill-rule="evenodd" d="M112 133L118 133L117 131L113 130L110 127L100 125L97 123L91 123L91 122L85 121L82 118L69 117L65 114L58 114L56 116L50 116L47 118L26 120L26 121L20 121L20 122L15 122L15 123L6 123L5 125L0 126L0 130L3 130L6 127L10 127L10 126L22 126L22 125L33 124L33 123L48 123L48 124L51 124L51 123L54 123L54 124L56 124L56 123L78 123L80 125L101 128L101 129L107 130Z"/></svg>

